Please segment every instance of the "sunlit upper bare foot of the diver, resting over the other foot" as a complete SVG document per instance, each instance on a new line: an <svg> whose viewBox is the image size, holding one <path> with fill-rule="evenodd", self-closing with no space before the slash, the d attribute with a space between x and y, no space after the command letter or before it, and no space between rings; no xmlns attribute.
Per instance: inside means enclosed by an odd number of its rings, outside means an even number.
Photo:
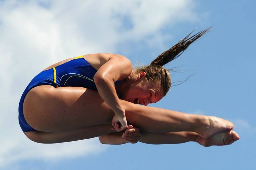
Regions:
<svg viewBox="0 0 256 170"><path fill-rule="evenodd" d="M199 135L203 138L209 138L215 133L230 131L234 129L234 124L227 120L215 116L209 116L206 121L206 127L201 129Z"/></svg>

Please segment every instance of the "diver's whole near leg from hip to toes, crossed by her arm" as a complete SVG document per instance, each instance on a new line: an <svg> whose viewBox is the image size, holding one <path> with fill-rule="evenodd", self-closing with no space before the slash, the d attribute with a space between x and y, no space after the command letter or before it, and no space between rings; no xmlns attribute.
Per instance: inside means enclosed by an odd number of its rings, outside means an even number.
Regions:
<svg viewBox="0 0 256 170"><path fill-rule="evenodd" d="M231 122L216 117L145 107L124 100L122 104L128 122L149 132L195 131L207 138L234 127ZM95 91L82 87L54 88L50 85L30 90L23 111L28 124L43 132L67 132L111 124L114 115Z"/></svg>

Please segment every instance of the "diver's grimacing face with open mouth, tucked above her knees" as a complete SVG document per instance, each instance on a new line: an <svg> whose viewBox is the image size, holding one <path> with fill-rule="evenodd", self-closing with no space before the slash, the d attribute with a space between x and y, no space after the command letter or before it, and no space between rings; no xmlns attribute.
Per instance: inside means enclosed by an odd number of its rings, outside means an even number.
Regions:
<svg viewBox="0 0 256 170"><path fill-rule="evenodd" d="M156 103L163 97L163 90L159 83L148 82L145 78L132 84L123 99L135 104L147 106L149 103Z"/></svg>

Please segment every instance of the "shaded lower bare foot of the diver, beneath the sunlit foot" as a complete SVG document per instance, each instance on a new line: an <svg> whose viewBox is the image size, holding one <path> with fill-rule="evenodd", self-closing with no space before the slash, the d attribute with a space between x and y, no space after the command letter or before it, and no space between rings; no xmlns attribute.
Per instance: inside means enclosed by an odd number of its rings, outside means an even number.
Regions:
<svg viewBox="0 0 256 170"><path fill-rule="evenodd" d="M196 142L205 147L209 147L213 145L223 146L223 145L232 144L239 139L240 139L239 135L235 131L231 130L231 131L216 133L215 135L207 139L204 139L203 137L198 135L196 137Z"/></svg>

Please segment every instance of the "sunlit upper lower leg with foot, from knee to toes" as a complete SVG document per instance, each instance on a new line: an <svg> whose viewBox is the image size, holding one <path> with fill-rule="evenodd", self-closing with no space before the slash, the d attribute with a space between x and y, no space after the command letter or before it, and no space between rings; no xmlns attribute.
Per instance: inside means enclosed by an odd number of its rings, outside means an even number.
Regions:
<svg viewBox="0 0 256 170"><path fill-rule="evenodd" d="M134 105L122 101L125 115L134 127L153 133L192 131L203 138L221 131L232 130L233 123L214 116L185 114L177 111Z"/></svg>

